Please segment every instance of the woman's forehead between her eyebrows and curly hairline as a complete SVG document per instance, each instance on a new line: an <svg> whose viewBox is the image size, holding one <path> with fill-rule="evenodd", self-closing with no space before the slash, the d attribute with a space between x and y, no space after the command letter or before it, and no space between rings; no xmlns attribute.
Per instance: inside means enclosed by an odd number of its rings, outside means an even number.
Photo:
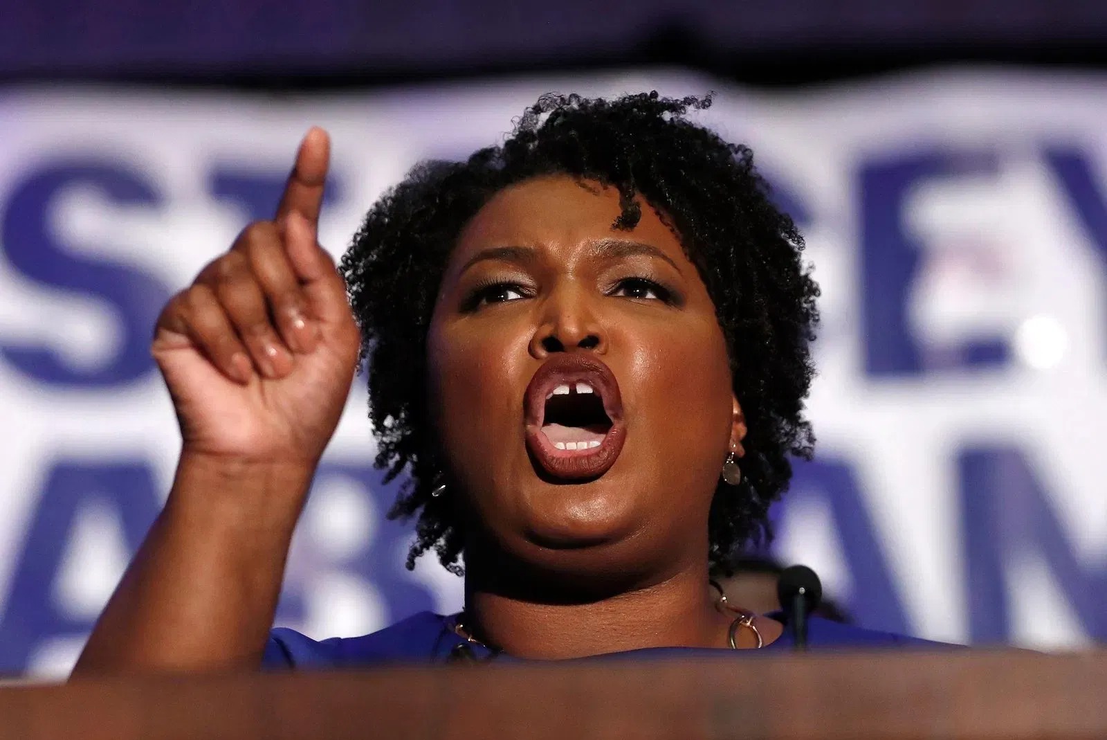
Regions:
<svg viewBox="0 0 1107 740"><path fill-rule="evenodd" d="M494 246L569 247L608 237L633 237L686 260L680 240L658 213L638 198L642 217L631 229L614 228L622 209L619 191L594 181L551 176L511 185L473 217L459 235L455 259Z"/></svg>

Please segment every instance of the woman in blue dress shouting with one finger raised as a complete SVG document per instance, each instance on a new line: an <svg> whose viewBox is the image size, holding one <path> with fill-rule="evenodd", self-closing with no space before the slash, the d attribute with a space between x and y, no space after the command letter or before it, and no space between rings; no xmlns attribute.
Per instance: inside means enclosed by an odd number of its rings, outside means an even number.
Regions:
<svg viewBox="0 0 1107 740"><path fill-rule="evenodd" d="M76 671L786 645L707 573L765 534L810 452L818 290L749 151L684 117L707 104L544 97L501 147L385 195L341 275L315 241L329 144L309 132L275 219L158 320L180 462ZM465 611L270 634L359 349L376 463L410 473L408 566L434 549L461 574L464 554Z"/></svg>

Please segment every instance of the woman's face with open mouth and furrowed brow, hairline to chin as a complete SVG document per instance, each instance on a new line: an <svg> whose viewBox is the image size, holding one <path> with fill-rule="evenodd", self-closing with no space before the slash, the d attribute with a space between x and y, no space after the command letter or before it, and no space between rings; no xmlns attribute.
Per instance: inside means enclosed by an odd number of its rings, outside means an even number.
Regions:
<svg viewBox="0 0 1107 740"><path fill-rule="evenodd" d="M745 433L715 309L642 203L545 177L459 235L427 340L467 549L569 577L704 562L722 463ZM472 568L470 558L470 568Z"/></svg>

